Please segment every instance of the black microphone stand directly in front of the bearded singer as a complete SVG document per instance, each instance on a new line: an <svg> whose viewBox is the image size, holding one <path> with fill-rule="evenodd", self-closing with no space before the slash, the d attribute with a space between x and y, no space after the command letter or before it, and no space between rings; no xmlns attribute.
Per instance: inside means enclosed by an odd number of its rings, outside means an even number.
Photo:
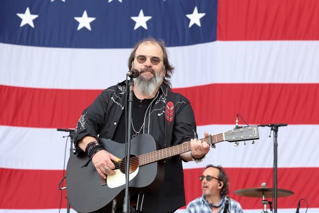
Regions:
<svg viewBox="0 0 319 213"><path fill-rule="evenodd" d="M130 212L130 195L129 195L129 175L130 175L130 155L131 155L131 119L132 119L132 102L133 102L133 76L130 76L129 81L129 114L128 114L128 121L127 121L127 138L126 138L126 164L125 164L125 197L123 203L123 212Z"/></svg>

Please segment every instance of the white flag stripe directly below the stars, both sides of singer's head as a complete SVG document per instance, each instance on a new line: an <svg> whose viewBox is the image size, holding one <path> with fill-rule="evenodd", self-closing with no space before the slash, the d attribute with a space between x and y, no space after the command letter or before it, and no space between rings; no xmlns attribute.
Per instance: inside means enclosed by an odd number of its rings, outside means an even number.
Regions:
<svg viewBox="0 0 319 213"><path fill-rule="evenodd" d="M176 68L172 77L175 88L211 83L319 82L319 41L217 41L168 50ZM0 84L104 89L125 79L130 52L0 43Z"/></svg>

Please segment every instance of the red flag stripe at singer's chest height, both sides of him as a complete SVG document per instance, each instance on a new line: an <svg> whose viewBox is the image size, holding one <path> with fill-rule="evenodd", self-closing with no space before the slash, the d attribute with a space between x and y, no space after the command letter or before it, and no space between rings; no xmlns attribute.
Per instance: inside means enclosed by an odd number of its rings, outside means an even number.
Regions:
<svg viewBox="0 0 319 213"><path fill-rule="evenodd" d="M174 89L191 102L197 125L319 124L319 84L210 84ZM0 86L0 125L74 128L101 90ZM203 113L205 112L205 113Z"/></svg>

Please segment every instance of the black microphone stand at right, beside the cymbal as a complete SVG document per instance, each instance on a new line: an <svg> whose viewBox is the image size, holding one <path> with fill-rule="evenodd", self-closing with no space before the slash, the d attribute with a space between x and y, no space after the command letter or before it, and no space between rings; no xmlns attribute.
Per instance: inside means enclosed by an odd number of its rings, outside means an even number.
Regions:
<svg viewBox="0 0 319 213"><path fill-rule="evenodd" d="M270 127L271 130L273 131L273 164L274 164L274 205L273 205L273 213L277 213L277 158L278 158L278 144L277 144L277 133L278 133L278 128L280 126L287 126L288 124L286 123L281 123L281 124L260 124L258 126L260 127ZM270 137L270 135L269 135Z"/></svg>

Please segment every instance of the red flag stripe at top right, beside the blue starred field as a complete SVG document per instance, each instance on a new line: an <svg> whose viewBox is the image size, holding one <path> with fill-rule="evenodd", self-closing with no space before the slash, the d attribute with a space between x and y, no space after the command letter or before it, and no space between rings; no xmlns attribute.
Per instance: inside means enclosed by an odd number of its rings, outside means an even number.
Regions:
<svg viewBox="0 0 319 213"><path fill-rule="evenodd" d="M217 40L318 40L319 1L218 1Z"/></svg>

